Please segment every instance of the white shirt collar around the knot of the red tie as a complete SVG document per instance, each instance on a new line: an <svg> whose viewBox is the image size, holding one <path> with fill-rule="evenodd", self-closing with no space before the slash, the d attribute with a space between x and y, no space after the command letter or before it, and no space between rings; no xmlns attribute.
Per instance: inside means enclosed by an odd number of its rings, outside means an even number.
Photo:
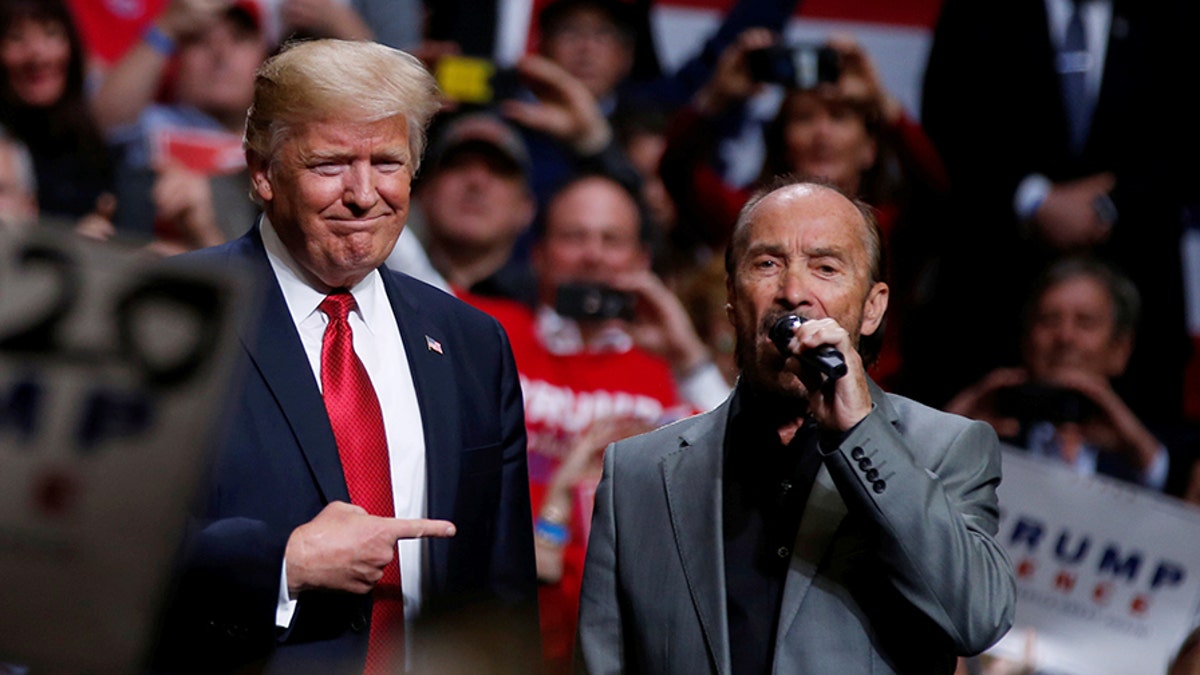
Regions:
<svg viewBox="0 0 1200 675"><path fill-rule="evenodd" d="M265 215L259 225L259 232L263 237L263 247L266 249L266 259L271 263L275 279L280 282L280 291L283 292L283 300L292 315L292 322L300 325L313 315L324 317L324 313L317 307L325 299L325 293L308 283L300 264L292 257L278 233L275 232L275 226ZM383 309L383 303L386 301L386 292L383 288L383 277L379 276L379 270L371 270L349 291L358 304L359 317L362 318L367 330L376 333L374 327L380 321L379 312Z"/></svg>

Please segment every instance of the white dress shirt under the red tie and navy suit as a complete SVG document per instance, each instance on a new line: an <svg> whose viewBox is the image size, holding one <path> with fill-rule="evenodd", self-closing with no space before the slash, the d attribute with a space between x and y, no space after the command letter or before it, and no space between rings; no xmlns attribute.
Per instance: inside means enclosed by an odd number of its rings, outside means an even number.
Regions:
<svg viewBox="0 0 1200 675"><path fill-rule="evenodd" d="M300 267L280 240L264 216L260 232L266 258L283 292L283 300L300 334L313 378L320 388L320 346L329 317L318 307L325 293L310 286ZM379 273L372 271L349 289L358 303L348 321L354 333L354 352L362 362L383 410L384 434L391 465L391 490L396 518L425 518L425 432L416 401L413 374L408 368L404 342L391 303ZM404 619L410 621L420 611L422 539L398 542L401 584L404 592ZM287 627L296 608L296 599L287 590L287 563L280 585L276 625Z"/></svg>

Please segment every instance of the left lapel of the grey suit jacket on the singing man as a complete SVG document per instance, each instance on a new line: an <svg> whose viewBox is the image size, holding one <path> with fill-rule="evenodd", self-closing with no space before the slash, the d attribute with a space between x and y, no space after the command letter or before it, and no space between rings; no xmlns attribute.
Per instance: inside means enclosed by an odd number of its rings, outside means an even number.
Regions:
<svg viewBox="0 0 1200 675"><path fill-rule="evenodd" d="M676 550L700 617L708 656L718 673L730 673L725 605L725 548L721 534L721 448L730 401L701 416L662 459L662 485ZM718 479L714 480L713 478Z"/></svg>

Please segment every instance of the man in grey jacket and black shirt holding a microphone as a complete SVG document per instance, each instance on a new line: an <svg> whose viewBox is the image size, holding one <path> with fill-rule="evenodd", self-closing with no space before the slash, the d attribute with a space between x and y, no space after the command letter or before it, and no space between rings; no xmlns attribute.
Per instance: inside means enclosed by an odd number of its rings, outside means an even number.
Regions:
<svg viewBox="0 0 1200 675"><path fill-rule="evenodd" d="M726 258L740 378L714 411L608 448L583 670L949 674L1008 629L995 432L866 377L880 241L870 208L824 185L743 208ZM829 348L841 377L811 365Z"/></svg>

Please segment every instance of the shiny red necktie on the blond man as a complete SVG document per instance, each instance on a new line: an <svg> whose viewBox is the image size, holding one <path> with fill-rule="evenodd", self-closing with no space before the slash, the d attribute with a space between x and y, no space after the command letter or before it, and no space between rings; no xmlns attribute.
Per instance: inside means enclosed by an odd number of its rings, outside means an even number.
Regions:
<svg viewBox="0 0 1200 675"><path fill-rule="evenodd" d="M335 292L320 303L329 317L320 346L320 386L342 460L350 502L371 515L396 514L388 465L388 438L383 412L371 378L354 353L354 334L347 315L354 295ZM376 584L367 647L367 675L403 670L404 598L400 586L400 560L394 556Z"/></svg>

